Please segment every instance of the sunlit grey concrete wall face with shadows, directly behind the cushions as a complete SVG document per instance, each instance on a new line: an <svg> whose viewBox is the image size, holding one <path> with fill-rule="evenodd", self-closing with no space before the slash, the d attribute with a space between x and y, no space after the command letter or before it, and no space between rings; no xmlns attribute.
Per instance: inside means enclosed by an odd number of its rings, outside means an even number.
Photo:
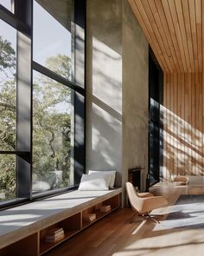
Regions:
<svg viewBox="0 0 204 256"><path fill-rule="evenodd" d="M87 1L86 170L117 169L122 181L120 0Z"/></svg>

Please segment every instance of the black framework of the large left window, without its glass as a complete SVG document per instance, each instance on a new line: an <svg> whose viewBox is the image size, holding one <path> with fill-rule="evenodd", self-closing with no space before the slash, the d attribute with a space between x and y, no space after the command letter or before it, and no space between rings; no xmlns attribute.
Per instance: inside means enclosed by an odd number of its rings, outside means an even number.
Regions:
<svg viewBox="0 0 204 256"><path fill-rule="evenodd" d="M17 38L17 73L16 73L16 150L0 151L0 154L16 154L16 199L4 200L0 202L0 209L12 207L22 202L29 202L39 198L61 194L68 190L76 189L80 183L80 177L86 170L86 1L73 0L73 53L74 56L74 76L73 81L55 74L50 69L42 66L33 60L33 6L35 0L14 0L14 13L7 10L0 4L0 19L16 29ZM73 32L72 31L72 32ZM82 31L82 34L81 34ZM82 35L82 36L81 36ZM28 41L27 49L21 52L21 36ZM79 47L80 45L80 47ZM27 67L23 66L24 57L29 58ZM82 65L78 65L78 61ZM26 69L26 72L25 72ZM67 86L73 90L73 109L74 109L74 148L73 148L73 174L74 185L46 192L32 193L32 148L33 148L33 70L52 78L56 82ZM23 74L24 72L24 74ZM82 75L81 75L82 74ZM23 88L23 83L19 80L26 80L29 89ZM83 77L82 77L83 76ZM18 83L19 82L19 83ZM23 96L22 96L23 93ZM23 100L22 102L22 98ZM29 100L28 100L29 99ZM21 111L23 106L28 107L26 114ZM26 116L24 116L26 115ZM80 121L77 116L80 116ZM27 118L26 125L22 120ZM26 126L26 127L25 127ZM26 131L26 133L25 133ZM23 139L23 140L22 140ZM24 141L24 142L23 142ZM26 141L26 142L25 142Z"/></svg>

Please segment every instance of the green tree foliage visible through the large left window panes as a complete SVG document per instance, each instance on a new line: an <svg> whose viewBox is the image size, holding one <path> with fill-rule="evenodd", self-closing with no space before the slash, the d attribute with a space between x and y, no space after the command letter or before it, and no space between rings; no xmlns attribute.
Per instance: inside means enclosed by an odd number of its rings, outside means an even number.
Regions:
<svg viewBox="0 0 204 256"><path fill-rule="evenodd" d="M67 56L50 56L48 69L70 77ZM16 52L0 36L0 145L16 149ZM33 85L33 180L47 182L51 189L70 183L70 89L35 72ZM62 181L56 173L62 172ZM0 194L16 197L16 156L0 155ZM1 199L0 199L1 200Z"/></svg>

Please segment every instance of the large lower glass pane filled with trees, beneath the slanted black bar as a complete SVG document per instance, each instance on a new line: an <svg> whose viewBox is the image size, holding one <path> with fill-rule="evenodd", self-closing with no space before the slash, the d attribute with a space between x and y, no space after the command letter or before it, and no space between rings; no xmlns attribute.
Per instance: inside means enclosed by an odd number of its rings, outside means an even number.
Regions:
<svg viewBox="0 0 204 256"><path fill-rule="evenodd" d="M73 185L71 89L34 72L33 192Z"/></svg>

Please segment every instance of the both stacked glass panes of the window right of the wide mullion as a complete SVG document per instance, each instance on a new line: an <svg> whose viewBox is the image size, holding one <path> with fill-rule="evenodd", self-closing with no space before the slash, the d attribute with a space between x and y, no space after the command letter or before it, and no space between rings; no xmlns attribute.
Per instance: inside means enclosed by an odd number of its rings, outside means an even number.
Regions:
<svg viewBox="0 0 204 256"><path fill-rule="evenodd" d="M34 1L35 62L67 81L72 66L72 1ZM43 23L41 21L43 20ZM39 67L39 66L38 66ZM73 185L73 92L40 68L33 73L33 191Z"/></svg>

